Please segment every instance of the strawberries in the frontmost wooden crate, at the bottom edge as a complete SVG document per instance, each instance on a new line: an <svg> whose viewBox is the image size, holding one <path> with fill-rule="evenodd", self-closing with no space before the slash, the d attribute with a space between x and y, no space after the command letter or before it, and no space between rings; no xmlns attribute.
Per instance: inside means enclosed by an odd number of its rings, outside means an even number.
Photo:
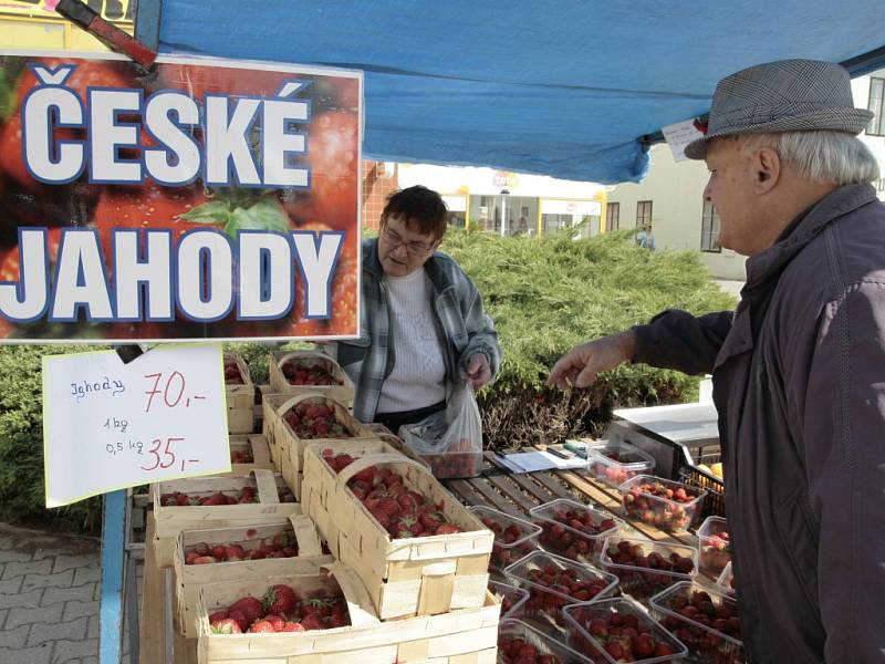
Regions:
<svg viewBox="0 0 885 664"><path fill-rule="evenodd" d="M324 590L300 595L279 583L262 599L246 596L209 616L214 634L264 634L333 630L351 624L347 604L340 592Z"/></svg>

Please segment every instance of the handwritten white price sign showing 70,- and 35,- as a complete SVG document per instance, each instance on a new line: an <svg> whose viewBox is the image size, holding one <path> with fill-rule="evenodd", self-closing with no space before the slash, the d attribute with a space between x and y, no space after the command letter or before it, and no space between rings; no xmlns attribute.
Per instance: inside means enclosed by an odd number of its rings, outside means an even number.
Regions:
<svg viewBox="0 0 885 664"><path fill-rule="evenodd" d="M46 507L230 470L221 346L43 357Z"/></svg>

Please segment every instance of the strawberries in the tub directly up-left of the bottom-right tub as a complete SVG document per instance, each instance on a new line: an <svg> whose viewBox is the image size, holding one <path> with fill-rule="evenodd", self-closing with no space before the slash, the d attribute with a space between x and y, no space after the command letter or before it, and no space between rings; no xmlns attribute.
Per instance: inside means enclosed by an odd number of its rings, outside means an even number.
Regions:
<svg viewBox="0 0 885 664"><path fill-rule="evenodd" d="M686 581L695 569L695 562L686 556L679 556L675 551L667 557L658 551L646 554L642 544L629 540L611 541L602 563L607 571L621 579L621 590L637 600L660 592L677 581Z"/></svg>

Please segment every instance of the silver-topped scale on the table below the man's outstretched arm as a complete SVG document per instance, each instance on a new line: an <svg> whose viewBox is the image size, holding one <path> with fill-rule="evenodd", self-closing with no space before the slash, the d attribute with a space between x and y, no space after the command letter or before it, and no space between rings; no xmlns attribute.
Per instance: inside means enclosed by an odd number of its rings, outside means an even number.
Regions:
<svg viewBox="0 0 885 664"><path fill-rule="evenodd" d="M655 459L655 475L677 479L686 466L720 460L712 403L620 408L603 438L624 440Z"/></svg>

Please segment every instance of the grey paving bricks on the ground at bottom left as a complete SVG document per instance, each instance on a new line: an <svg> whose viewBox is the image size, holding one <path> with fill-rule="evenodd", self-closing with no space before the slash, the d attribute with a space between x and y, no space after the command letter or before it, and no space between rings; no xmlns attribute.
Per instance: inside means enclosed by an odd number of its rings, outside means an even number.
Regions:
<svg viewBox="0 0 885 664"><path fill-rule="evenodd" d="M100 550L0 523L0 663L98 663Z"/></svg>

